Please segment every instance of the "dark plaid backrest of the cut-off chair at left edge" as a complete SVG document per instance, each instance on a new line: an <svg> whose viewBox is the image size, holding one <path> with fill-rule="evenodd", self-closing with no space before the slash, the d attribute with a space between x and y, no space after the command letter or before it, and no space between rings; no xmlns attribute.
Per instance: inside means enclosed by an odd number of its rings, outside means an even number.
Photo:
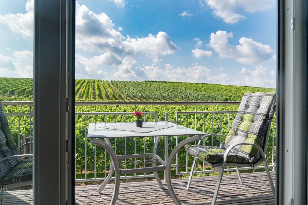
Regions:
<svg viewBox="0 0 308 205"><path fill-rule="evenodd" d="M7 118L3 112L2 104L0 102L0 159L7 156L20 155L20 151L14 142L11 134ZM21 158L4 160L0 162L0 180L9 171L14 169L20 162Z"/></svg>

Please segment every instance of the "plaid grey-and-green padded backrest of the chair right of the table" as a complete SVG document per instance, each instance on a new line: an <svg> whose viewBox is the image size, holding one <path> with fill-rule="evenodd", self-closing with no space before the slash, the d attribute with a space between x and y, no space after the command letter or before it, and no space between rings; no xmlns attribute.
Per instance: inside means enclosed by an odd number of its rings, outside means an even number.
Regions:
<svg viewBox="0 0 308 205"><path fill-rule="evenodd" d="M221 148L237 143L253 143L264 151L267 147L270 123L274 116L276 92L244 93L237 115ZM231 152L258 160L258 150L251 145L238 145Z"/></svg>

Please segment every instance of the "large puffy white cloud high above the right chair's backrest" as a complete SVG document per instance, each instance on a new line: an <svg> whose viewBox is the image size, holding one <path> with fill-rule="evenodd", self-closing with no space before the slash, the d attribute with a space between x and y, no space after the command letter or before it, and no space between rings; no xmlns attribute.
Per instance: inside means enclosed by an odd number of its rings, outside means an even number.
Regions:
<svg viewBox="0 0 308 205"><path fill-rule="evenodd" d="M233 37L232 32L217 31L211 34L210 46L221 58L235 59L242 64L256 65L262 61L270 60L275 55L270 45L253 41L251 38L241 37L240 45L230 45L228 38Z"/></svg>

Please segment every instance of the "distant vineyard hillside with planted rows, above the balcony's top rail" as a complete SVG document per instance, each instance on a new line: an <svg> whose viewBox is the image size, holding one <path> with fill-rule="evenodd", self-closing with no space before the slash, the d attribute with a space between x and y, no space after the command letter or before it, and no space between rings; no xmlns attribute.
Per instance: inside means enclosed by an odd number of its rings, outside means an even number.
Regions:
<svg viewBox="0 0 308 205"><path fill-rule="evenodd" d="M77 101L240 101L243 93L274 89L167 81L75 81ZM0 78L0 97L32 98L33 79Z"/></svg>

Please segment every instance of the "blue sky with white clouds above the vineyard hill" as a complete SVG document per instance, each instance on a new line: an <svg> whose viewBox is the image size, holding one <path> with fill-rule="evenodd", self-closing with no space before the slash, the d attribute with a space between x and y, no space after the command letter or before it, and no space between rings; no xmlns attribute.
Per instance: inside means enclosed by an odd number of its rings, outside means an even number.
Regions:
<svg viewBox="0 0 308 205"><path fill-rule="evenodd" d="M79 0L76 77L275 87L274 0ZM32 18L32 19L31 19ZM0 77L33 76L33 0L0 9Z"/></svg>

